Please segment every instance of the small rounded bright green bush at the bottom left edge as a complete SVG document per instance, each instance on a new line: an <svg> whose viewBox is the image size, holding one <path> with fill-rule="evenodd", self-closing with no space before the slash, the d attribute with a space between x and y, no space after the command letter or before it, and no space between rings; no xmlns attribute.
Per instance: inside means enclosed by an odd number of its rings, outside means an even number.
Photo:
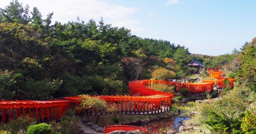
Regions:
<svg viewBox="0 0 256 134"><path fill-rule="evenodd" d="M46 123L31 125L26 134L51 134L51 125Z"/></svg>

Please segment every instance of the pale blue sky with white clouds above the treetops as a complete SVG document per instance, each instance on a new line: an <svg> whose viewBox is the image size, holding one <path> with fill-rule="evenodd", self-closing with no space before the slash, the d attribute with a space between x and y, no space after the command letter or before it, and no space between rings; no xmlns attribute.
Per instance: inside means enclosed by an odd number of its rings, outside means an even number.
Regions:
<svg viewBox="0 0 256 134"><path fill-rule="evenodd" d="M11 0L1 0L3 8ZM220 55L256 37L255 0L20 0L53 20L99 20L140 37L169 40L191 53Z"/></svg>

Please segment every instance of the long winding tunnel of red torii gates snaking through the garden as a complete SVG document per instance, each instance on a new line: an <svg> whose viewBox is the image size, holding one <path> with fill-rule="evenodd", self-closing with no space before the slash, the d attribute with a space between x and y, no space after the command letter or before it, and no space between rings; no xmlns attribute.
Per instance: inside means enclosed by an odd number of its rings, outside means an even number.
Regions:
<svg viewBox="0 0 256 134"><path fill-rule="evenodd" d="M129 82L131 96L97 96L104 99L108 105L116 104L117 109L122 113L158 113L159 111L168 111L172 107L172 97L174 94L154 90L154 84L161 83L168 86L175 86L177 91L186 88L189 94L203 94L211 92L213 85L225 87L224 79L230 80L230 86L233 87L234 79L221 77L222 71L208 70L210 77L215 80L203 80L201 83L180 83L163 80L139 80ZM0 120L2 123L17 120L19 117L34 118L37 122L58 120L69 108L75 108L80 105L80 97L64 97L65 100L1 100L0 101ZM102 114L105 109L90 108L90 114L93 112ZM84 111L76 110L76 114L84 114Z"/></svg>

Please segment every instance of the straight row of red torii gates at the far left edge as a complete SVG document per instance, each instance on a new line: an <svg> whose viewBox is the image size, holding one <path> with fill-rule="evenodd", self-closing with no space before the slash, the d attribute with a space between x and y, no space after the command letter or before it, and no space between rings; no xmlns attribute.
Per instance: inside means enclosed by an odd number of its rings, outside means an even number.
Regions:
<svg viewBox="0 0 256 134"><path fill-rule="evenodd" d="M0 101L0 110L2 112L2 123L11 120L24 118L29 114L29 118L34 118L37 122L40 120L59 119L67 109L70 108L68 100L2 100Z"/></svg>

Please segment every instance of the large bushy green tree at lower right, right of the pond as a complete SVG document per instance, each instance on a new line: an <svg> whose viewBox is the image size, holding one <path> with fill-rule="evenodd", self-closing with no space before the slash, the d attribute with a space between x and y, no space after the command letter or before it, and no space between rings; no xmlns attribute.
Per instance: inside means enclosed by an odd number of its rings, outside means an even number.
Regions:
<svg viewBox="0 0 256 134"><path fill-rule="evenodd" d="M247 108L244 91L234 88L221 100L204 103L201 107L203 122L216 134L241 134L242 113Z"/></svg>

